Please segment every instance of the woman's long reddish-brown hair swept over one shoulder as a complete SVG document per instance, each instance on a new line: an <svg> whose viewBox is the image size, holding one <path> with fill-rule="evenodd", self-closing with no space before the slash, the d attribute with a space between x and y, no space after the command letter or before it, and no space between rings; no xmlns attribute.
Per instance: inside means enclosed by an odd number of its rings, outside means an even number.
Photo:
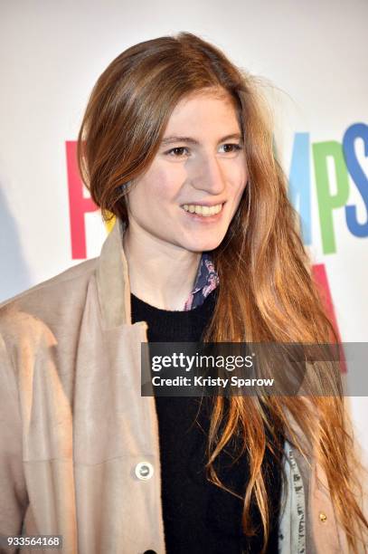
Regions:
<svg viewBox="0 0 368 554"><path fill-rule="evenodd" d="M225 92L243 133L248 185L213 261L220 276L218 301L204 341L324 343L337 340L310 271L288 201L287 179L273 151L272 124L259 79L236 67L215 46L192 33L138 43L109 64L93 88L78 137L80 175L100 206L128 223L125 196L150 166L175 105L191 93ZM340 384L331 396L233 396L229 409L216 396L206 465L241 433L250 460L243 530L254 534L250 503L258 504L264 549L269 536L269 498L262 460L267 433L288 435L309 459L314 452L330 485L338 521L352 549L368 528L357 500L357 460L348 431ZM225 413L226 412L226 413ZM293 421L293 425L291 425ZM269 423L271 422L271 424ZM220 425L222 434L218 440ZM300 441L295 425L306 441ZM299 433L299 436L300 436Z"/></svg>

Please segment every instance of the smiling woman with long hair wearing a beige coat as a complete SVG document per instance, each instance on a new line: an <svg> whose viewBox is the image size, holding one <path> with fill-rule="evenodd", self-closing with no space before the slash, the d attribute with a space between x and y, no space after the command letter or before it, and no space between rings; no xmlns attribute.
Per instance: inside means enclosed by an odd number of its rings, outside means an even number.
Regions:
<svg viewBox="0 0 368 554"><path fill-rule="evenodd" d="M331 338L268 121L256 81L191 33L99 77L80 173L117 223L99 258L2 306L2 534L88 554L363 549L341 396L140 396L141 342Z"/></svg>

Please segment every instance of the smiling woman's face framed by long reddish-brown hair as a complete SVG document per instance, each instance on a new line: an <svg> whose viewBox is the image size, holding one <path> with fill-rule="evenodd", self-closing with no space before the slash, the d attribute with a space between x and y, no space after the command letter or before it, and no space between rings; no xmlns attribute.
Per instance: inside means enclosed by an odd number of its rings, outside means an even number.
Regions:
<svg viewBox="0 0 368 554"><path fill-rule="evenodd" d="M192 95L175 106L153 163L128 193L129 226L191 252L212 250L222 243L247 179L231 100ZM206 216L212 209L220 211Z"/></svg>

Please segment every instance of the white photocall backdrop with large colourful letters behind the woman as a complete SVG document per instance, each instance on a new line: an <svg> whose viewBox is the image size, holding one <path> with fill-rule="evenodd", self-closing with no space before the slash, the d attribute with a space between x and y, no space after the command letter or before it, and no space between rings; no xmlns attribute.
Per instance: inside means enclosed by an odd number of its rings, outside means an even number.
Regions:
<svg viewBox="0 0 368 554"><path fill-rule="evenodd" d="M92 86L128 46L190 31L268 80L277 155L314 274L340 338L368 340L364 0L33 0L0 12L0 301L99 255L108 230L75 158ZM367 397L351 407L367 455Z"/></svg>

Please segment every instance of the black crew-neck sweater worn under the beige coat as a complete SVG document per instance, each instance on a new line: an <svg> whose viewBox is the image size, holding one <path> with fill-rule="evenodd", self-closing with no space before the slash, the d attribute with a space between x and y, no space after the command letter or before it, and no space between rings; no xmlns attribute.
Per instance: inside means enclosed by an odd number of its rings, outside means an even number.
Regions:
<svg viewBox="0 0 368 554"><path fill-rule="evenodd" d="M214 309L217 289L193 310L159 310L131 294L132 321L146 321L149 342L199 341ZM202 405L201 405L202 400ZM227 399L224 398L226 402ZM206 479L206 444L212 398L156 396L159 427L162 503L167 554L257 554L262 534L259 511L252 519L259 534L241 532L242 501ZM222 483L244 495L249 479L247 456L231 465L234 442L227 444L214 467ZM273 529L269 554L278 552L280 473L267 450L269 493L273 501Z"/></svg>

